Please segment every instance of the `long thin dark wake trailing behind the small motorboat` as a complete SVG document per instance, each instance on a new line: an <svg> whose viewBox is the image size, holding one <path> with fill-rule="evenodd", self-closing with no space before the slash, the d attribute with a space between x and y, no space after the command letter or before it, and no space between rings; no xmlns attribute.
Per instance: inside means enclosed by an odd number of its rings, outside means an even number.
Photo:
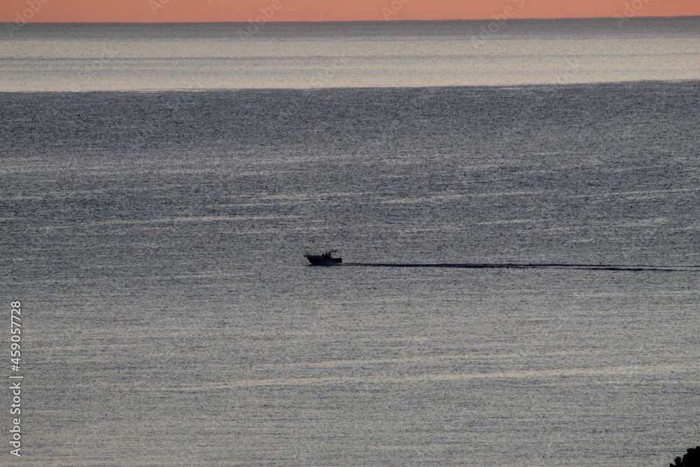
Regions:
<svg viewBox="0 0 700 467"><path fill-rule="evenodd" d="M517 263L343 263L346 266L371 267L463 267L472 269L512 268L512 269L569 269L596 271L700 271L700 266L653 266L653 265L588 265L588 264L517 264Z"/></svg>

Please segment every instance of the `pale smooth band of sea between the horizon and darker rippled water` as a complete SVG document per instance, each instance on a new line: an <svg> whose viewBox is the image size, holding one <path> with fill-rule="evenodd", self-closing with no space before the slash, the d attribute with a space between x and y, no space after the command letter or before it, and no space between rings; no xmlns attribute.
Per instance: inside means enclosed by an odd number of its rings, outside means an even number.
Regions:
<svg viewBox="0 0 700 467"><path fill-rule="evenodd" d="M512 18L6 26L0 92L700 79L700 17Z"/></svg>

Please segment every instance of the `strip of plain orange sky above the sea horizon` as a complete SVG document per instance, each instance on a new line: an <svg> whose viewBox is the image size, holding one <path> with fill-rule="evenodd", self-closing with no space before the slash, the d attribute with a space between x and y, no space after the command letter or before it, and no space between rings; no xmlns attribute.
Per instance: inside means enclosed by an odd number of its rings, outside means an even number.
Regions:
<svg viewBox="0 0 700 467"><path fill-rule="evenodd" d="M490 20L503 16L625 15L700 15L700 0L1 0L0 4L1 22Z"/></svg>

